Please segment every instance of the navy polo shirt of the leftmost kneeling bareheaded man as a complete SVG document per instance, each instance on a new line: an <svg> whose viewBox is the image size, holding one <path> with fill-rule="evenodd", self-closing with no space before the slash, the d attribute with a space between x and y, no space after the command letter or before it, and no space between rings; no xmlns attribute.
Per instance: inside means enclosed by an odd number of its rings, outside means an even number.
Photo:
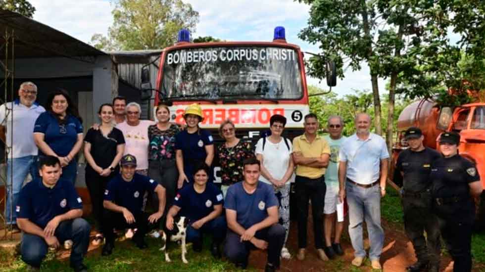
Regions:
<svg viewBox="0 0 485 272"><path fill-rule="evenodd" d="M82 208L83 201L72 182L61 179L50 189L41 179L36 179L27 183L20 191L15 211L17 218L26 218L44 228L52 218Z"/></svg>

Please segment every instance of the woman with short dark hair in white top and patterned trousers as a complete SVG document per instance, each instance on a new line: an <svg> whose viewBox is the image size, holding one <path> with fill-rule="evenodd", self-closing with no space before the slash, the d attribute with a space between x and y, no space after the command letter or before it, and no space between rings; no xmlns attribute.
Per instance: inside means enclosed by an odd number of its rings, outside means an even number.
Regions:
<svg viewBox="0 0 485 272"><path fill-rule="evenodd" d="M294 181L291 141L282 136L286 125L283 115L275 114L270 118L271 135L261 138L256 144L256 158L261 162L260 181L273 185L278 198L280 221L286 230L285 243L290 230L290 187ZM284 245L281 257L290 259L288 248Z"/></svg>

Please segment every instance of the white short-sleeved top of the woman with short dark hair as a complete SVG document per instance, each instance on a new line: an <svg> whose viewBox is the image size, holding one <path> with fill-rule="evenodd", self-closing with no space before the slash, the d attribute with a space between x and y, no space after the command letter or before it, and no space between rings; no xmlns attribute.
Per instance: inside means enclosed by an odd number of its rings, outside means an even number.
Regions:
<svg viewBox="0 0 485 272"><path fill-rule="evenodd" d="M285 176L288 170L288 165L291 160L291 153L293 152L293 146L291 141L287 140L290 150L285 143L285 138L281 137L279 143L272 143L268 138L266 138L266 144L263 150L263 138L260 138L256 143L256 155L263 155L263 166L268 170L271 176L277 180L281 180ZM272 184L263 175L259 176L259 180L268 184ZM294 173L290 178L290 182L294 181Z"/></svg>

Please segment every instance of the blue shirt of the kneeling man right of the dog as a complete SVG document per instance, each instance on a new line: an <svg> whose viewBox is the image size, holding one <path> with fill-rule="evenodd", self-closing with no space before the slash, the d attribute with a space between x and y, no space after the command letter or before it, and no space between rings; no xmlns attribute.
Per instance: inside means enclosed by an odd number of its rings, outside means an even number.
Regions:
<svg viewBox="0 0 485 272"><path fill-rule="evenodd" d="M249 194L242 187L242 181L229 186L224 208L237 213L236 221L245 229L268 217L268 208L278 206L273 187L258 181L256 190Z"/></svg>

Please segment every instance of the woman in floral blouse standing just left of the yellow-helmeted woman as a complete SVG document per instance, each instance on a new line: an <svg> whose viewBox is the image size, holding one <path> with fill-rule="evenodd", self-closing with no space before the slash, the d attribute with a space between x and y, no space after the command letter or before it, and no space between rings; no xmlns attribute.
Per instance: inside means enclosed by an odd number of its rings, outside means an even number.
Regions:
<svg viewBox="0 0 485 272"><path fill-rule="evenodd" d="M148 175L166 189L166 210L172 205L177 190L177 164L175 163L175 135L181 131L177 124L170 123L167 105L158 104L155 109L158 123L148 127L149 167ZM158 203L158 202L156 202Z"/></svg>

